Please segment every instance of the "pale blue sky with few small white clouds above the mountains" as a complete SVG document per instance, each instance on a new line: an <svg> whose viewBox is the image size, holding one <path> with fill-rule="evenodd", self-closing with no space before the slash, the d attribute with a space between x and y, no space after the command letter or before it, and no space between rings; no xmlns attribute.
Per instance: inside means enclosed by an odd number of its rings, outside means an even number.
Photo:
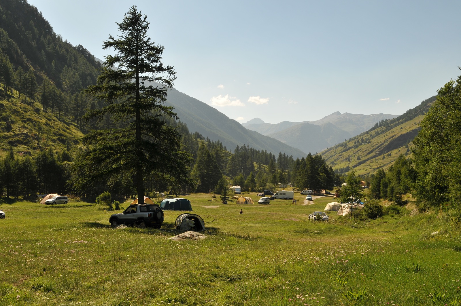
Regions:
<svg viewBox="0 0 461 306"><path fill-rule="evenodd" d="M174 87L245 123L400 115L461 71L461 1L29 0L104 60L130 6L165 47Z"/></svg>

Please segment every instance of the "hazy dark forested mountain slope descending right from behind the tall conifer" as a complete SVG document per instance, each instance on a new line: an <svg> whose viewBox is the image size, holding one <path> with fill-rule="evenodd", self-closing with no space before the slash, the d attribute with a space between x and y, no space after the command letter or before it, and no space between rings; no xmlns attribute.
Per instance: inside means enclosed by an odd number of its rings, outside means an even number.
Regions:
<svg viewBox="0 0 461 306"><path fill-rule="evenodd" d="M273 154L282 152L294 158L307 155L281 141L245 129L242 124L228 118L212 106L174 88L168 92L167 99L168 103L174 106L174 111L181 122L187 124L190 131L198 131L213 141L219 140L228 149L246 144L256 150L267 150Z"/></svg>

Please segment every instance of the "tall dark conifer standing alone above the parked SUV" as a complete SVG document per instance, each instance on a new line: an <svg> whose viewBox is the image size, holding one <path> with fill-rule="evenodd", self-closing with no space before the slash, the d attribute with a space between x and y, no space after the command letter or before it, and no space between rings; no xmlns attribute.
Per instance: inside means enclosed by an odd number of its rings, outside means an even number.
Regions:
<svg viewBox="0 0 461 306"><path fill-rule="evenodd" d="M115 54L106 57L97 84L86 89L104 106L87 112L86 118L100 121L110 114L123 127L85 135L83 143L91 145L91 150L83 166L88 169L88 183L120 173L134 177L143 204L144 178L159 172L177 179L188 177L190 156L180 151L180 136L163 119L177 119L172 107L165 106L176 72L161 62L164 47L147 35L147 16L132 6L117 25L121 35L104 41L104 49L113 48Z"/></svg>

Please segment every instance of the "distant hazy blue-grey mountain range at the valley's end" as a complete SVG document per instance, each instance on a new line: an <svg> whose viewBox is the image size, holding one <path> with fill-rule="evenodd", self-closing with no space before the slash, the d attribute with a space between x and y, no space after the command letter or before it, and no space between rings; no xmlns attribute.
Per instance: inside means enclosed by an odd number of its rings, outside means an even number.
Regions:
<svg viewBox="0 0 461 306"><path fill-rule="evenodd" d="M359 135L382 120L397 116L383 113L362 115L334 112L315 121L283 121L270 124L260 118L254 118L242 125L304 152L319 153L350 137Z"/></svg>

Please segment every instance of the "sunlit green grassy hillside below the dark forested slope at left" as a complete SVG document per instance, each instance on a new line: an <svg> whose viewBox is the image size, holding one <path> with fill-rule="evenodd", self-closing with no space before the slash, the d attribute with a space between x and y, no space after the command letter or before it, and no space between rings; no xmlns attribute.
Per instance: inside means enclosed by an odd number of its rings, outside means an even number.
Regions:
<svg viewBox="0 0 461 306"><path fill-rule="evenodd" d="M48 148L65 150L78 145L82 135L74 124L59 121L38 104L32 107L14 98L0 100L0 156L10 145L20 154Z"/></svg>

